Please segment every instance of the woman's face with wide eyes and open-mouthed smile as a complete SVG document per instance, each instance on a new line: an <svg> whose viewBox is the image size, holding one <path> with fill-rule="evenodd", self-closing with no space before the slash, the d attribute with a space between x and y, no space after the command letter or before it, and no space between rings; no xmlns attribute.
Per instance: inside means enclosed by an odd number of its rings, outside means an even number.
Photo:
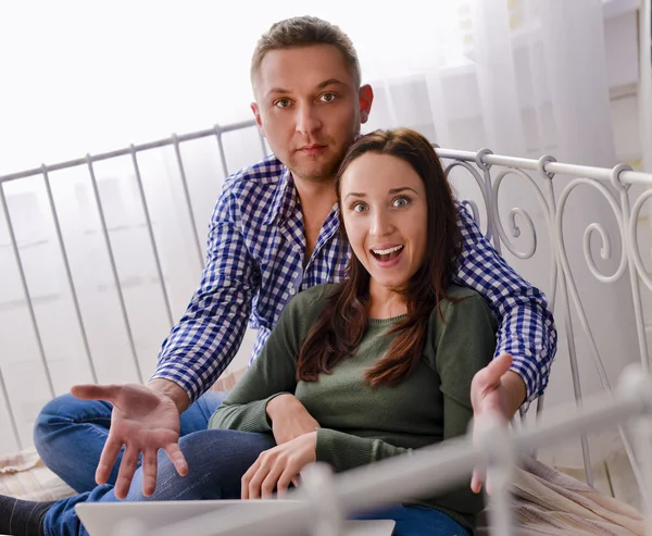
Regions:
<svg viewBox="0 0 652 536"><path fill-rule="evenodd" d="M372 285L403 288L426 254L428 207L422 178L398 157L367 152L344 171L340 197L351 248Z"/></svg>

